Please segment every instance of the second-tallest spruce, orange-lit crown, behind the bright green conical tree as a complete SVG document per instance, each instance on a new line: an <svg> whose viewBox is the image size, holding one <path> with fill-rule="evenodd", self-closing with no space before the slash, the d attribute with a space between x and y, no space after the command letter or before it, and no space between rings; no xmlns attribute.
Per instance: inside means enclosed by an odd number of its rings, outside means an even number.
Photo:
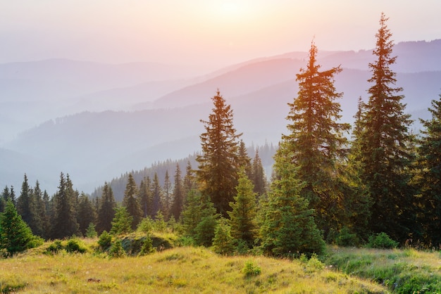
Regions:
<svg viewBox="0 0 441 294"><path fill-rule="evenodd" d="M344 211L344 184L340 180L342 160L347 153L347 138L350 125L339 123L342 97L334 87L334 76L341 72L340 66L319 71L316 62L317 48L312 42L306 69L297 74L299 92L293 103L287 129L283 135L292 164L299 170L297 179L305 183L300 195L309 201L316 213L318 228L328 234L330 229L339 228L347 212Z"/></svg>

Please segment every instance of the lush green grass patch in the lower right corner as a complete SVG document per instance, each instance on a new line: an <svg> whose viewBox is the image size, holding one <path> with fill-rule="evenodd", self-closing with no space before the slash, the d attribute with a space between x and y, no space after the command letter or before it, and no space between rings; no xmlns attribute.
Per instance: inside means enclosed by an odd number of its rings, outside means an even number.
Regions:
<svg viewBox="0 0 441 294"><path fill-rule="evenodd" d="M330 247L325 263L343 274L376 281L394 293L441 293L439 252Z"/></svg>

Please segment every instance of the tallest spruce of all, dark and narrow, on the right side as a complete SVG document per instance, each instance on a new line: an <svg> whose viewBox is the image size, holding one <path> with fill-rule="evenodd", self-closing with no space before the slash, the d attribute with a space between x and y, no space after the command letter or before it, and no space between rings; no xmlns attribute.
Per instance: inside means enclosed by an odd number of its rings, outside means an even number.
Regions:
<svg viewBox="0 0 441 294"><path fill-rule="evenodd" d="M397 56L392 57L392 33L386 25L384 13L373 54L369 63L372 77L368 82L369 99L361 117L359 148L361 151L361 180L373 201L371 231L385 233L400 241L409 237L414 226L414 191L409 186L411 162L414 155L409 148L413 136L409 134L410 115L404 114L401 87L396 87L396 74L390 69ZM414 236L417 237L417 236Z"/></svg>

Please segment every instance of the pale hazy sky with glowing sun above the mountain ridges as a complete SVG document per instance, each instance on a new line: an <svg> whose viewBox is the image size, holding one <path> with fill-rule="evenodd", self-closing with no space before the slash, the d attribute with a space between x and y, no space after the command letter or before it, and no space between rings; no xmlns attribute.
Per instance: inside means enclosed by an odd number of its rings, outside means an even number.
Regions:
<svg viewBox="0 0 441 294"><path fill-rule="evenodd" d="M0 63L70 58L207 68L307 51L441 39L440 0L0 0Z"/></svg>

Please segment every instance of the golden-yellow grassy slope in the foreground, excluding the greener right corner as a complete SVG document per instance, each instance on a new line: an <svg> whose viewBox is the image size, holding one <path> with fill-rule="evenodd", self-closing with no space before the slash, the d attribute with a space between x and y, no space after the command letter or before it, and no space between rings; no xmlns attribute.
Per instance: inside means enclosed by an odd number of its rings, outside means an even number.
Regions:
<svg viewBox="0 0 441 294"><path fill-rule="evenodd" d="M250 261L260 274L244 274ZM119 259L35 250L0 260L0 269L0 288L20 293L386 293L377 284L299 260L222 257L206 248Z"/></svg>

